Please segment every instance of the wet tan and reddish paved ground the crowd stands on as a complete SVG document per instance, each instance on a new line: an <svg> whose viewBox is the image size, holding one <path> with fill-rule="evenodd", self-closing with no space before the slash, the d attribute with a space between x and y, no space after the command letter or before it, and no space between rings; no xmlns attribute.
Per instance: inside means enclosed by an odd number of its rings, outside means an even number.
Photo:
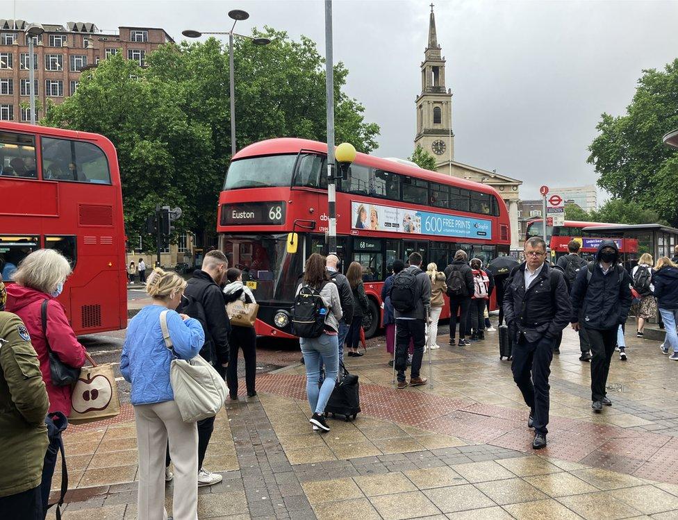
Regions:
<svg viewBox="0 0 678 520"><path fill-rule="evenodd" d="M487 337L461 349L440 336L433 384L404 390L391 384L383 338L372 339L347 358L363 413L324 435L308 424L303 367L261 374L259 397L217 418L205 466L224 482L200 489L199 518L678 518L678 363L656 342L627 338L629 360L615 356L609 378L614 405L594 414L590 365L566 330L549 446L534 452L510 362ZM131 412L67 430L66 519L136 518Z"/></svg>

